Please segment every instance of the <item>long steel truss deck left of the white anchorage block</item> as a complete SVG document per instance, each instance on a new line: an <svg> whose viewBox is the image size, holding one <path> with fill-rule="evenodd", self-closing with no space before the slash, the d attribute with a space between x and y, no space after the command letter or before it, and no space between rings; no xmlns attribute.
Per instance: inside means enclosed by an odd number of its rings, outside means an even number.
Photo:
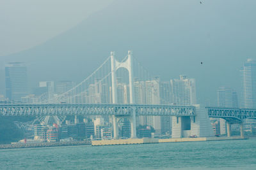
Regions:
<svg viewBox="0 0 256 170"><path fill-rule="evenodd" d="M195 116L195 106L140 104L3 104L0 116L116 115Z"/></svg>

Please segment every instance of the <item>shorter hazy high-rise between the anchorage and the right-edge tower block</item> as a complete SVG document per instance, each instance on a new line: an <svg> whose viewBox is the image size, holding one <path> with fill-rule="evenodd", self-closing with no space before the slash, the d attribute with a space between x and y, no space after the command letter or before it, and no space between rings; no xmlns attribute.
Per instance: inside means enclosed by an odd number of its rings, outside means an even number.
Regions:
<svg viewBox="0 0 256 170"><path fill-rule="evenodd" d="M220 87L217 91L218 107L220 108L237 108L237 93L229 87ZM220 134L226 134L226 121L218 118L220 122ZM233 125L234 126L234 125Z"/></svg>

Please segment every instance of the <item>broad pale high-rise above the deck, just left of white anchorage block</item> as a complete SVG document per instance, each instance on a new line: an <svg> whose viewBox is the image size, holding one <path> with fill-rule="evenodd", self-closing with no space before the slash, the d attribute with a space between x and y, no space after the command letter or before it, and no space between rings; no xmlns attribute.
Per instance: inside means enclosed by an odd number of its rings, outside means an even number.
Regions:
<svg viewBox="0 0 256 170"><path fill-rule="evenodd" d="M171 89L174 104L196 104L196 83L194 78L180 75L180 79L171 80Z"/></svg>

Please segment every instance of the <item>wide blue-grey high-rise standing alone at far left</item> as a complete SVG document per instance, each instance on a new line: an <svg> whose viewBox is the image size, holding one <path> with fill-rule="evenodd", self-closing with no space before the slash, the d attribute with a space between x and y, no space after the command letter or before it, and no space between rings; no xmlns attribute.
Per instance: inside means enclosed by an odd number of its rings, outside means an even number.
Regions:
<svg viewBox="0 0 256 170"><path fill-rule="evenodd" d="M21 101L28 95L27 67L22 62L9 62L5 66L6 97L10 101Z"/></svg>

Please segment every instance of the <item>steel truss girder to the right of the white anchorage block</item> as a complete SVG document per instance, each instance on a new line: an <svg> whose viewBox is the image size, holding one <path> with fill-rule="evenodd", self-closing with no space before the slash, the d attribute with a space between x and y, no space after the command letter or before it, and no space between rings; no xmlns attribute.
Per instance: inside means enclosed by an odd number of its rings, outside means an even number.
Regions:
<svg viewBox="0 0 256 170"><path fill-rule="evenodd" d="M243 122L246 118L256 118L256 110L239 108L207 108L209 117L224 118L234 122Z"/></svg>

